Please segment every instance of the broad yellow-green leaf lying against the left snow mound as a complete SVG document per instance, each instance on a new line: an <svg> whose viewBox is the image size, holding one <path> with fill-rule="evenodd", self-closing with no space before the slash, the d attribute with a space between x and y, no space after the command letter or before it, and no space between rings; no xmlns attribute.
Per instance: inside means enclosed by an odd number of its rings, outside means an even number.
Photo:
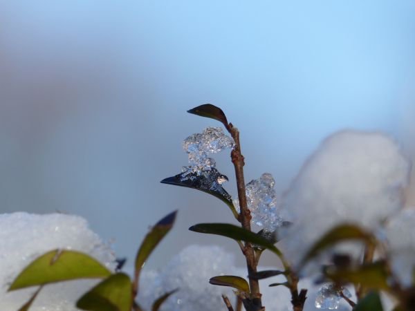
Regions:
<svg viewBox="0 0 415 311"><path fill-rule="evenodd" d="M55 249L30 263L13 281L9 290L73 279L104 278L110 274L106 267L89 255Z"/></svg>

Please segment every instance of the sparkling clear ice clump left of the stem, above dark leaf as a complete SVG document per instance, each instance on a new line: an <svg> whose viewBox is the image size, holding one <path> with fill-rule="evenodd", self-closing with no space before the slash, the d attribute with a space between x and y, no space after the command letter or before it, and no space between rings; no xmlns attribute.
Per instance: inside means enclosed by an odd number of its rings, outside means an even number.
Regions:
<svg viewBox="0 0 415 311"><path fill-rule="evenodd" d="M209 153L219 153L224 149L232 149L234 141L223 133L221 127L208 127L202 133L192 134L183 141L183 149L187 152L190 166L183 171L209 171L216 166Z"/></svg>

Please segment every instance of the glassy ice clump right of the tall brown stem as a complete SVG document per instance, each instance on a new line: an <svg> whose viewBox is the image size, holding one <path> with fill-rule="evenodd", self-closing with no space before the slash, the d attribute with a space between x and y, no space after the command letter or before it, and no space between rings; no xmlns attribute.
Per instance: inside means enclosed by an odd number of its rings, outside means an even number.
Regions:
<svg viewBox="0 0 415 311"><path fill-rule="evenodd" d="M263 173L259 179L251 180L246 185L246 202L251 212L251 222L273 232L282 224L277 211L277 194L275 180L270 173ZM234 199L234 206L239 211L239 200Z"/></svg>

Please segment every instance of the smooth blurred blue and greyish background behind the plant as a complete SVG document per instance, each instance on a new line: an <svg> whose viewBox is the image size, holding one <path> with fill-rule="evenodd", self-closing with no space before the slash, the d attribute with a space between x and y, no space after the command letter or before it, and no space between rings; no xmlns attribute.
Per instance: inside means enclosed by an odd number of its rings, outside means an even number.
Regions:
<svg viewBox="0 0 415 311"><path fill-rule="evenodd" d="M340 129L388 133L414 159L414 15L412 0L1 1L0 212L84 216L131 264L178 209L149 265L191 243L238 253L187 231L232 222L222 202L160 184L187 135L219 126L186 111L220 106L246 181L270 172L279 194ZM229 154L215 159L236 195Z"/></svg>

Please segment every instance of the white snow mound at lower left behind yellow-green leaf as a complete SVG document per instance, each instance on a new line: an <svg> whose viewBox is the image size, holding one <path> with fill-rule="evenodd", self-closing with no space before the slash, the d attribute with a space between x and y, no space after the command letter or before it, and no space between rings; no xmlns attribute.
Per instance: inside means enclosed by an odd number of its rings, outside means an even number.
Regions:
<svg viewBox="0 0 415 311"><path fill-rule="evenodd" d="M10 283L31 261L52 249L73 249L113 269L110 247L89 229L80 216L64 214L0 214L0 310L18 310L37 288L6 292ZM46 285L30 311L75 311L75 301L99 280Z"/></svg>

